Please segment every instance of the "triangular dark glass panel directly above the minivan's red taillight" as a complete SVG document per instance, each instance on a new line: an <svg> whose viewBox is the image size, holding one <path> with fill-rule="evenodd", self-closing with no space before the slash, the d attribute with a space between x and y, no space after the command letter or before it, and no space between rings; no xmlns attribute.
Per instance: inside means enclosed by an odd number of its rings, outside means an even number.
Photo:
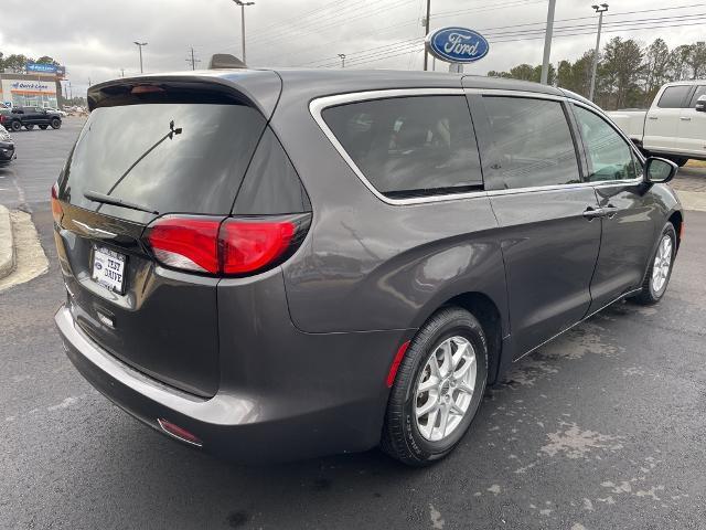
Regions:
<svg viewBox="0 0 706 530"><path fill-rule="evenodd" d="M311 211L289 157L267 128L247 170L233 212L238 215L300 213Z"/></svg>

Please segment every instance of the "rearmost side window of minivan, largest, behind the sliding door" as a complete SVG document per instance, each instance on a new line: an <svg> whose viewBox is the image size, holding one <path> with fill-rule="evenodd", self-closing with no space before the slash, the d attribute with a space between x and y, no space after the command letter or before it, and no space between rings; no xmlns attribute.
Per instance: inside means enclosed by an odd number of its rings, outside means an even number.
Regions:
<svg viewBox="0 0 706 530"><path fill-rule="evenodd" d="M363 176L393 199L482 187L464 96L410 96L330 107L323 119Z"/></svg>

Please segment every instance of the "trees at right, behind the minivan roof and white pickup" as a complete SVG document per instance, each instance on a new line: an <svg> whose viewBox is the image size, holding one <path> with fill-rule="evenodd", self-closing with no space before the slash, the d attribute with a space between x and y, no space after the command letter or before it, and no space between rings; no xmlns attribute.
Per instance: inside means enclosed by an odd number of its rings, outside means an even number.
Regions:
<svg viewBox="0 0 706 530"><path fill-rule="evenodd" d="M549 65L548 82L588 97L593 50L576 61ZM520 64L489 76L539 82L542 65ZM605 109L646 107L660 87L671 81L706 78L706 42L683 44L673 50L664 40L641 46L633 39L611 39L599 54L593 100Z"/></svg>

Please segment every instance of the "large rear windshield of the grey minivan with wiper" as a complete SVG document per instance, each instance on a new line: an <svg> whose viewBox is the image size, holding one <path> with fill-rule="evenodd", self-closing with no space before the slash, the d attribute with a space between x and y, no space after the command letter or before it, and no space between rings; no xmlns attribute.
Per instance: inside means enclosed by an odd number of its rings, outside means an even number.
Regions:
<svg viewBox="0 0 706 530"><path fill-rule="evenodd" d="M228 214L265 124L257 109L238 104L97 108L60 178L60 198L137 222L153 214L84 194L109 195L160 214Z"/></svg>

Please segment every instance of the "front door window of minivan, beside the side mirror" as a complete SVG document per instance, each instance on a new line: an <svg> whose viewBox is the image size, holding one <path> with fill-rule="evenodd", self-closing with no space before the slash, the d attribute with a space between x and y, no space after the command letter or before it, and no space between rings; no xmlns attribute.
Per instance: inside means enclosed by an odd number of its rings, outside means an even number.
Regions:
<svg viewBox="0 0 706 530"><path fill-rule="evenodd" d="M574 106L589 162L588 180L634 179L639 173L630 145L608 121L584 107Z"/></svg>

